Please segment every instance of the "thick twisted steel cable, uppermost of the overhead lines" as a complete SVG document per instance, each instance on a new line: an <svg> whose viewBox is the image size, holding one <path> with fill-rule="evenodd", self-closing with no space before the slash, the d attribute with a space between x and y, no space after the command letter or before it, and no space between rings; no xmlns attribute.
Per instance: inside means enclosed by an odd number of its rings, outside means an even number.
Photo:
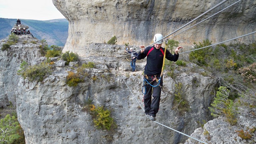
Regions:
<svg viewBox="0 0 256 144"><path fill-rule="evenodd" d="M225 3L226 1L228 1L228 0L223 0L223 1L221 1L220 3L218 3L217 5L215 5L214 7L210 8L210 9L207 10L206 12L202 13L201 15L199 15L198 17L196 17L196 18L193 19L192 21L188 22L187 24L183 25L183 26L180 27L179 29L175 30L175 31L172 32L171 34L169 34L169 35L163 37L163 38L160 39L159 41L161 41L161 40L165 39L166 37L168 37L168 36L170 36L170 35L176 33L176 32L179 31L180 29L182 29L182 28L186 27L187 25L191 24L191 23L194 22L195 20L197 20L197 19L199 19L200 17L202 17L203 15L209 13L210 11L212 11L213 9L215 9L215 8L217 8L218 6L222 5L222 4ZM152 44L150 44L150 45L148 45L148 46L146 46L146 47L149 47L149 46L151 46L151 45L153 45L153 44L155 44L155 43L157 43L157 42L158 42L158 41L156 41L156 42L154 42L154 43L152 43ZM146 48L146 47L145 47L145 48ZM143 49L145 49L145 48L143 48ZM140 49L140 50L142 50L142 49ZM140 50L135 51L135 52L139 52ZM112 52L114 52L114 51L112 51ZM115 53L115 52L114 52L114 53ZM116 53L115 53L115 54L116 54ZM119 55L119 54L117 54L117 55ZM125 54L125 55L129 55L129 54ZM120 56L125 56L125 55L120 55Z"/></svg>

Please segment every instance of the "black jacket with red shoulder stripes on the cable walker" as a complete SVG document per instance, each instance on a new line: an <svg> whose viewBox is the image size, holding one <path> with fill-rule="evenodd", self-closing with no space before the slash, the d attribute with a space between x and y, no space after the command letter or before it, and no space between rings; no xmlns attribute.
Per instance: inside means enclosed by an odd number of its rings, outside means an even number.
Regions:
<svg viewBox="0 0 256 144"><path fill-rule="evenodd" d="M144 52L138 52L137 59L144 59L147 56L147 64L144 69L144 74L146 75L160 75L164 60L164 50L165 48L160 47L156 49L154 46L146 47ZM171 54L169 50L166 49L166 59L170 61L177 61L179 54Z"/></svg>

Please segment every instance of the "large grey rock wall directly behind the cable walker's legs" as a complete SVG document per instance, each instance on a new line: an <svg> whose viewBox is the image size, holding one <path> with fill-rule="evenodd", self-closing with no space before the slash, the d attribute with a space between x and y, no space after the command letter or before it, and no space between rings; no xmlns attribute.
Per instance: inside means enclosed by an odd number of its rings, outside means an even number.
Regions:
<svg viewBox="0 0 256 144"><path fill-rule="evenodd" d="M58 68L42 83L20 78L17 114L27 143L179 143L187 139L186 136L146 119L140 107L143 107L141 71L130 73L122 71L121 66L116 71L111 67L112 64L103 62L107 59L99 59L101 63L84 59L95 62L97 68L88 69L91 76L77 87L69 87L65 83L67 71L72 71L68 67ZM93 76L97 80L93 80ZM199 84L196 89L195 81ZM178 116L172 104L174 84L177 82L183 84L191 108L182 116ZM209 92L213 83L210 77L196 73L184 72L175 80L165 77L157 121L184 133L192 133L202 117L210 119L206 108L209 106ZM95 129L92 116L82 110L87 99L92 99L96 106L111 109L112 117L118 125L114 134Z"/></svg>

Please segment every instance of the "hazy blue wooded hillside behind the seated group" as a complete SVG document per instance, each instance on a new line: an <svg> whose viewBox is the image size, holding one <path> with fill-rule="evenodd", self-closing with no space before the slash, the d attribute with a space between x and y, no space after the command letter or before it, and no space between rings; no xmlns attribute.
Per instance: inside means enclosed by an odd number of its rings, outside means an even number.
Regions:
<svg viewBox="0 0 256 144"><path fill-rule="evenodd" d="M6 38L17 19L0 18L0 39ZM37 39L45 39L48 45L64 46L68 37L68 21L55 19L47 21L20 19L21 24L28 26Z"/></svg>

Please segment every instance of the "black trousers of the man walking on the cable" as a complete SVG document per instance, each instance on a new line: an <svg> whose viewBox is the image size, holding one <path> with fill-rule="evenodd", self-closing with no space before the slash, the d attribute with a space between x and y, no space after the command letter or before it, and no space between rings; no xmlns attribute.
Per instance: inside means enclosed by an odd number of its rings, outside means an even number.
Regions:
<svg viewBox="0 0 256 144"><path fill-rule="evenodd" d="M160 77L157 77L159 79ZM151 82L152 79L148 79ZM158 82L154 80L151 85L156 86ZM157 87L152 87L149 84L145 86L146 94L144 95L144 106L145 113L151 116L156 116L160 105L161 87L163 86L163 80L161 79L160 84ZM151 101L151 97L153 97Z"/></svg>

